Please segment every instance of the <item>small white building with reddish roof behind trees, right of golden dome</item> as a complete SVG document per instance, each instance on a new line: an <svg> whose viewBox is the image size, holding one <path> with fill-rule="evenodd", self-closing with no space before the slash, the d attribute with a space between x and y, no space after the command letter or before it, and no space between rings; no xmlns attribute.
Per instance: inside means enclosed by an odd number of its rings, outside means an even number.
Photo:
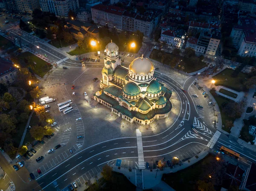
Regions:
<svg viewBox="0 0 256 191"><path fill-rule="evenodd" d="M176 48L181 48L185 39L185 32L181 29L177 31L162 30L160 41Z"/></svg>

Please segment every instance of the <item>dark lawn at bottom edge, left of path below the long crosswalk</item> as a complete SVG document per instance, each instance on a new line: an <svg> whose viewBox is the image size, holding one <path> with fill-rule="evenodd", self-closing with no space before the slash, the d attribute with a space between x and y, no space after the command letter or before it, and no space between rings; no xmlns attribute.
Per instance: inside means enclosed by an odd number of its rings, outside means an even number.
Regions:
<svg viewBox="0 0 256 191"><path fill-rule="evenodd" d="M100 189L96 189L97 185L93 184L84 191L136 191L136 186L133 185L123 174L112 171L111 181L106 181L104 178L99 179Z"/></svg>

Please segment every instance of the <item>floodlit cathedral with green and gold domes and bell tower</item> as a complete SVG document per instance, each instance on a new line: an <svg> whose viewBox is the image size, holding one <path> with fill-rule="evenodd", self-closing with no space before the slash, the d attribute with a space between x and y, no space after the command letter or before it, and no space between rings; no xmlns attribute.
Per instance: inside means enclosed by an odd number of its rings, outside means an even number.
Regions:
<svg viewBox="0 0 256 191"><path fill-rule="evenodd" d="M147 58L134 59L128 68L121 66L118 46L106 46L100 91L94 100L130 123L148 125L169 116L172 91L156 80L154 65Z"/></svg>

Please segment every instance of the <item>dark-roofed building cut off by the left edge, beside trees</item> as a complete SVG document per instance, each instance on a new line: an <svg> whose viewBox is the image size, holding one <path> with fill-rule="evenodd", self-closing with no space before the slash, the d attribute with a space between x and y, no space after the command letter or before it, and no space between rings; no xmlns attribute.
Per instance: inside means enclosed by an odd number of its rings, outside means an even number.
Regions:
<svg viewBox="0 0 256 191"><path fill-rule="evenodd" d="M0 83L12 84L16 76L17 68L13 66L12 61L0 58Z"/></svg>

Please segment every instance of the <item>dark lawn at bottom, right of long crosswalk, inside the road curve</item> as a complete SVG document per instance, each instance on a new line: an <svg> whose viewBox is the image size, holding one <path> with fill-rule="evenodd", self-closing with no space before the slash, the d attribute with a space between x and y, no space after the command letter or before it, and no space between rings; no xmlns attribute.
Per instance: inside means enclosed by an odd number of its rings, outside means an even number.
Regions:
<svg viewBox="0 0 256 191"><path fill-rule="evenodd" d="M176 191L196 191L198 190L196 182L201 178L201 174L207 168L207 165L213 160L215 160L215 157L209 154L203 160L184 170L166 174L162 177L162 180Z"/></svg>

